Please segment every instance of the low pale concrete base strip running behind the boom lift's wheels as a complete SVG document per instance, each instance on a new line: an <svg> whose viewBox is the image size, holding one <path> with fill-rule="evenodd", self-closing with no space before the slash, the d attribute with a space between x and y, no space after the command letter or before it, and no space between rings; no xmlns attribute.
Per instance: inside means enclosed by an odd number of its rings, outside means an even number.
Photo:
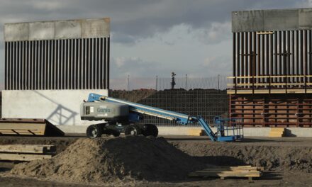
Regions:
<svg viewBox="0 0 312 187"><path fill-rule="evenodd" d="M85 133L87 125L59 125L65 133ZM201 127L165 127L159 126L159 135L199 135ZM211 128L216 132L216 128ZM271 128L244 128L245 137L269 137ZM286 128L286 135L296 137L312 137L312 128Z"/></svg>

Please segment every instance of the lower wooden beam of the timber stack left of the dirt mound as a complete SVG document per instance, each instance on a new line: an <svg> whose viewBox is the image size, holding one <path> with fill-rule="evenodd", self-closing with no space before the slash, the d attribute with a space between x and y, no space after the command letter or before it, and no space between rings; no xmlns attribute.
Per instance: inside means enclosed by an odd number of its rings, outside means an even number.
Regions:
<svg viewBox="0 0 312 187"><path fill-rule="evenodd" d="M11 153L0 153L0 160L9 161L32 161L37 159L50 159L52 155L48 154L11 154Z"/></svg>

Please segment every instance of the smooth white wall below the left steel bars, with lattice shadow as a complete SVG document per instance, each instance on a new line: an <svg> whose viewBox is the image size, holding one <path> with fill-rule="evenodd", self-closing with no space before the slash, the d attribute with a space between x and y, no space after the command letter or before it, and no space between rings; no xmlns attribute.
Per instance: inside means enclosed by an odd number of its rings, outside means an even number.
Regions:
<svg viewBox="0 0 312 187"><path fill-rule="evenodd" d="M80 104L90 93L108 90L4 90L2 118L45 118L54 125L90 125L80 120Z"/></svg>

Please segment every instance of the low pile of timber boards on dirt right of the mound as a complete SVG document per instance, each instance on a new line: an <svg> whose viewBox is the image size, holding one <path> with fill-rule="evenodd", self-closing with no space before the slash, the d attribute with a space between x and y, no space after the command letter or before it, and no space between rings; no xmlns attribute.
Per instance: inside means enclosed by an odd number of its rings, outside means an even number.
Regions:
<svg viewBox="0 0 312 187"><path fill-rule="evenodd" d="M247 177L250 181L253 178L262 176L263 167L252 166L218 166L208 169L194 171L189 174L190 177Z"/></svg>

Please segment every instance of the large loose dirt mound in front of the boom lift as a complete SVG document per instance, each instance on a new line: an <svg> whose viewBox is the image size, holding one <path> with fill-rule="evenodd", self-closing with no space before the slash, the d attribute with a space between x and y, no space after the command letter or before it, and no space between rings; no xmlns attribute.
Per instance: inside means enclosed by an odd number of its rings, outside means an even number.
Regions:
<svg viewBox="0 0 312 187"><path fill-rule="evenodd" d="M201 169L193 157L164 138L82 138L52 159L17 164L12 174L57 181L116 182L184 179Z"/></svg>

